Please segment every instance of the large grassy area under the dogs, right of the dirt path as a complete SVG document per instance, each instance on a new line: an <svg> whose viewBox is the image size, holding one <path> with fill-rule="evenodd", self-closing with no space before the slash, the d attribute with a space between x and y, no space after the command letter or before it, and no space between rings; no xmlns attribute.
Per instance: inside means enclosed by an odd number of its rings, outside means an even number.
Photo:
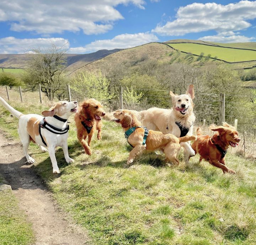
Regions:
<svg viewBox="0 0 256 245"><path fill-rule="evenodd" d="M40 113L43 106L26 107ZM8 123L6 123L8 122ZM17 119L0 107L0 127L16 138ZM167 167L162 155L143 154L126 166L131 147L120 126L103 121L102 140L92 140L88 156L76 139L71 118L67 164L56 158L61 175L52 174L48 153L31 144L35 170L60 207L88 230L94 245L251 245L256 242L256 162L227 154L223 174L198 156Z"/></svg>

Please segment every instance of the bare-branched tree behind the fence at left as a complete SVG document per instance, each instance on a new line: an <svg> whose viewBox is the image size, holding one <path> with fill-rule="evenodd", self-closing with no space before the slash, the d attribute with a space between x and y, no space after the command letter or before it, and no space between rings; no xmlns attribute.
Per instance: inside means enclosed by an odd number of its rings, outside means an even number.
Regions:
<svg viewBox="0 0 256 245"><path fill-rule="evenodd" d="M50 48L37 48L31 51L31 62L23 80L32 88L36 88L40 83L42 92L49 100L53 100L66 81L66 49L52 44ZM63 91L60 94L63 94Z"/></svg>

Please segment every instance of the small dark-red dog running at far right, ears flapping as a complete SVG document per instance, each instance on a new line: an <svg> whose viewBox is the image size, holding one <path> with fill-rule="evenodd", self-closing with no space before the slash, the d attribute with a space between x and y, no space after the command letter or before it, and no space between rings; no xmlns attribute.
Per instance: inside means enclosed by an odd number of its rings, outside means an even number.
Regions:
<svg viewBox="0 0 256 245"><path fill-rule="evenodd" d="M192 144L192 148L195 153L200 154L200 162L204 159L213 166L222 169L223 173L232 173L235 171L225 166L225 160L222 158L221 152L217 149L215 144L219 145L222 149L226 150L229 148L229 142L239 143L240 138L235 128L227 123L223 126L211 125L210 129L216 131L212 137L209 135L202 135L201 128L197 129L197 140Z"/></svg>

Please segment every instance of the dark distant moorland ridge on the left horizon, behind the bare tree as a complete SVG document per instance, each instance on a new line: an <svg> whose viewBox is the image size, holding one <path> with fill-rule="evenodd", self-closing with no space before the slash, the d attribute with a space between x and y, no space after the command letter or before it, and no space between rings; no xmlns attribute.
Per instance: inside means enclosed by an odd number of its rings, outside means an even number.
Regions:
<svg viewBox="0 0 256 245"><path fill-rule="evenodd" d="M89 54L66 54L68 69L75 70L84 64L96 61L122 49L101 49ZM0 54L0 67L27 68L29 54Z"/></svg>

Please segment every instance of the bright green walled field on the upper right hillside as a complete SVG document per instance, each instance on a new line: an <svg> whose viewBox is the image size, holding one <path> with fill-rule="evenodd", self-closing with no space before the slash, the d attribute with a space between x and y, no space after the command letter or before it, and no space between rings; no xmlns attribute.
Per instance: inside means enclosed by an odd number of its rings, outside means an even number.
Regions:
<svg viewBox="0 0 256 245"><path fill-rule="evenodd" d="M169 44L175 49L190 52L192 54L200 55L204 53L204 56L211 54L211 57L217 57L218 59L228 62L238 61L251 61L256 59L256 51L240 50L231 48L222 48L201 44Z"/></svg>

